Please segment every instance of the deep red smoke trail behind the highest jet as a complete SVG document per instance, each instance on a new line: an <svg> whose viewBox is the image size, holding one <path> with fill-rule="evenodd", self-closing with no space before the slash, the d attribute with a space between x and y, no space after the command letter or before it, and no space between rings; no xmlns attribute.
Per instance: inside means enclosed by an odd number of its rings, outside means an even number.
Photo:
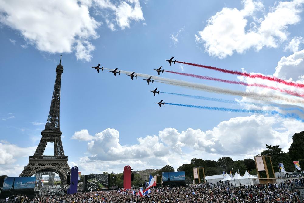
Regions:
<svg viewBox="0 0 304 203"><path fill-rule="evenodd" d="M243 72L240 72L240 71L221 69L221 68L216 68L216 67L212 67L212 66L205 66L205 65L195 64L195 63L187 63L187 62L181 62L181 61L176 61L176 62L187 64L187 65L190 65L190 66L198 66L198 67L202 67L202 68L212 69L212 70L220 71L220 72L223 72L223 73L230 73L230 74L240 75L240 76L245 76L245 77L250 77L250 78L261 78L261 79L264 79L264 80L275 81L275 82L282 83L282 84L289 85L289 86L304 88L304 84L288 82L286 80L283 80L283 79L280 79L280 78L277 78L277 77L264 76L264 75L261 75L261 74L243 73Z"/></svg>

